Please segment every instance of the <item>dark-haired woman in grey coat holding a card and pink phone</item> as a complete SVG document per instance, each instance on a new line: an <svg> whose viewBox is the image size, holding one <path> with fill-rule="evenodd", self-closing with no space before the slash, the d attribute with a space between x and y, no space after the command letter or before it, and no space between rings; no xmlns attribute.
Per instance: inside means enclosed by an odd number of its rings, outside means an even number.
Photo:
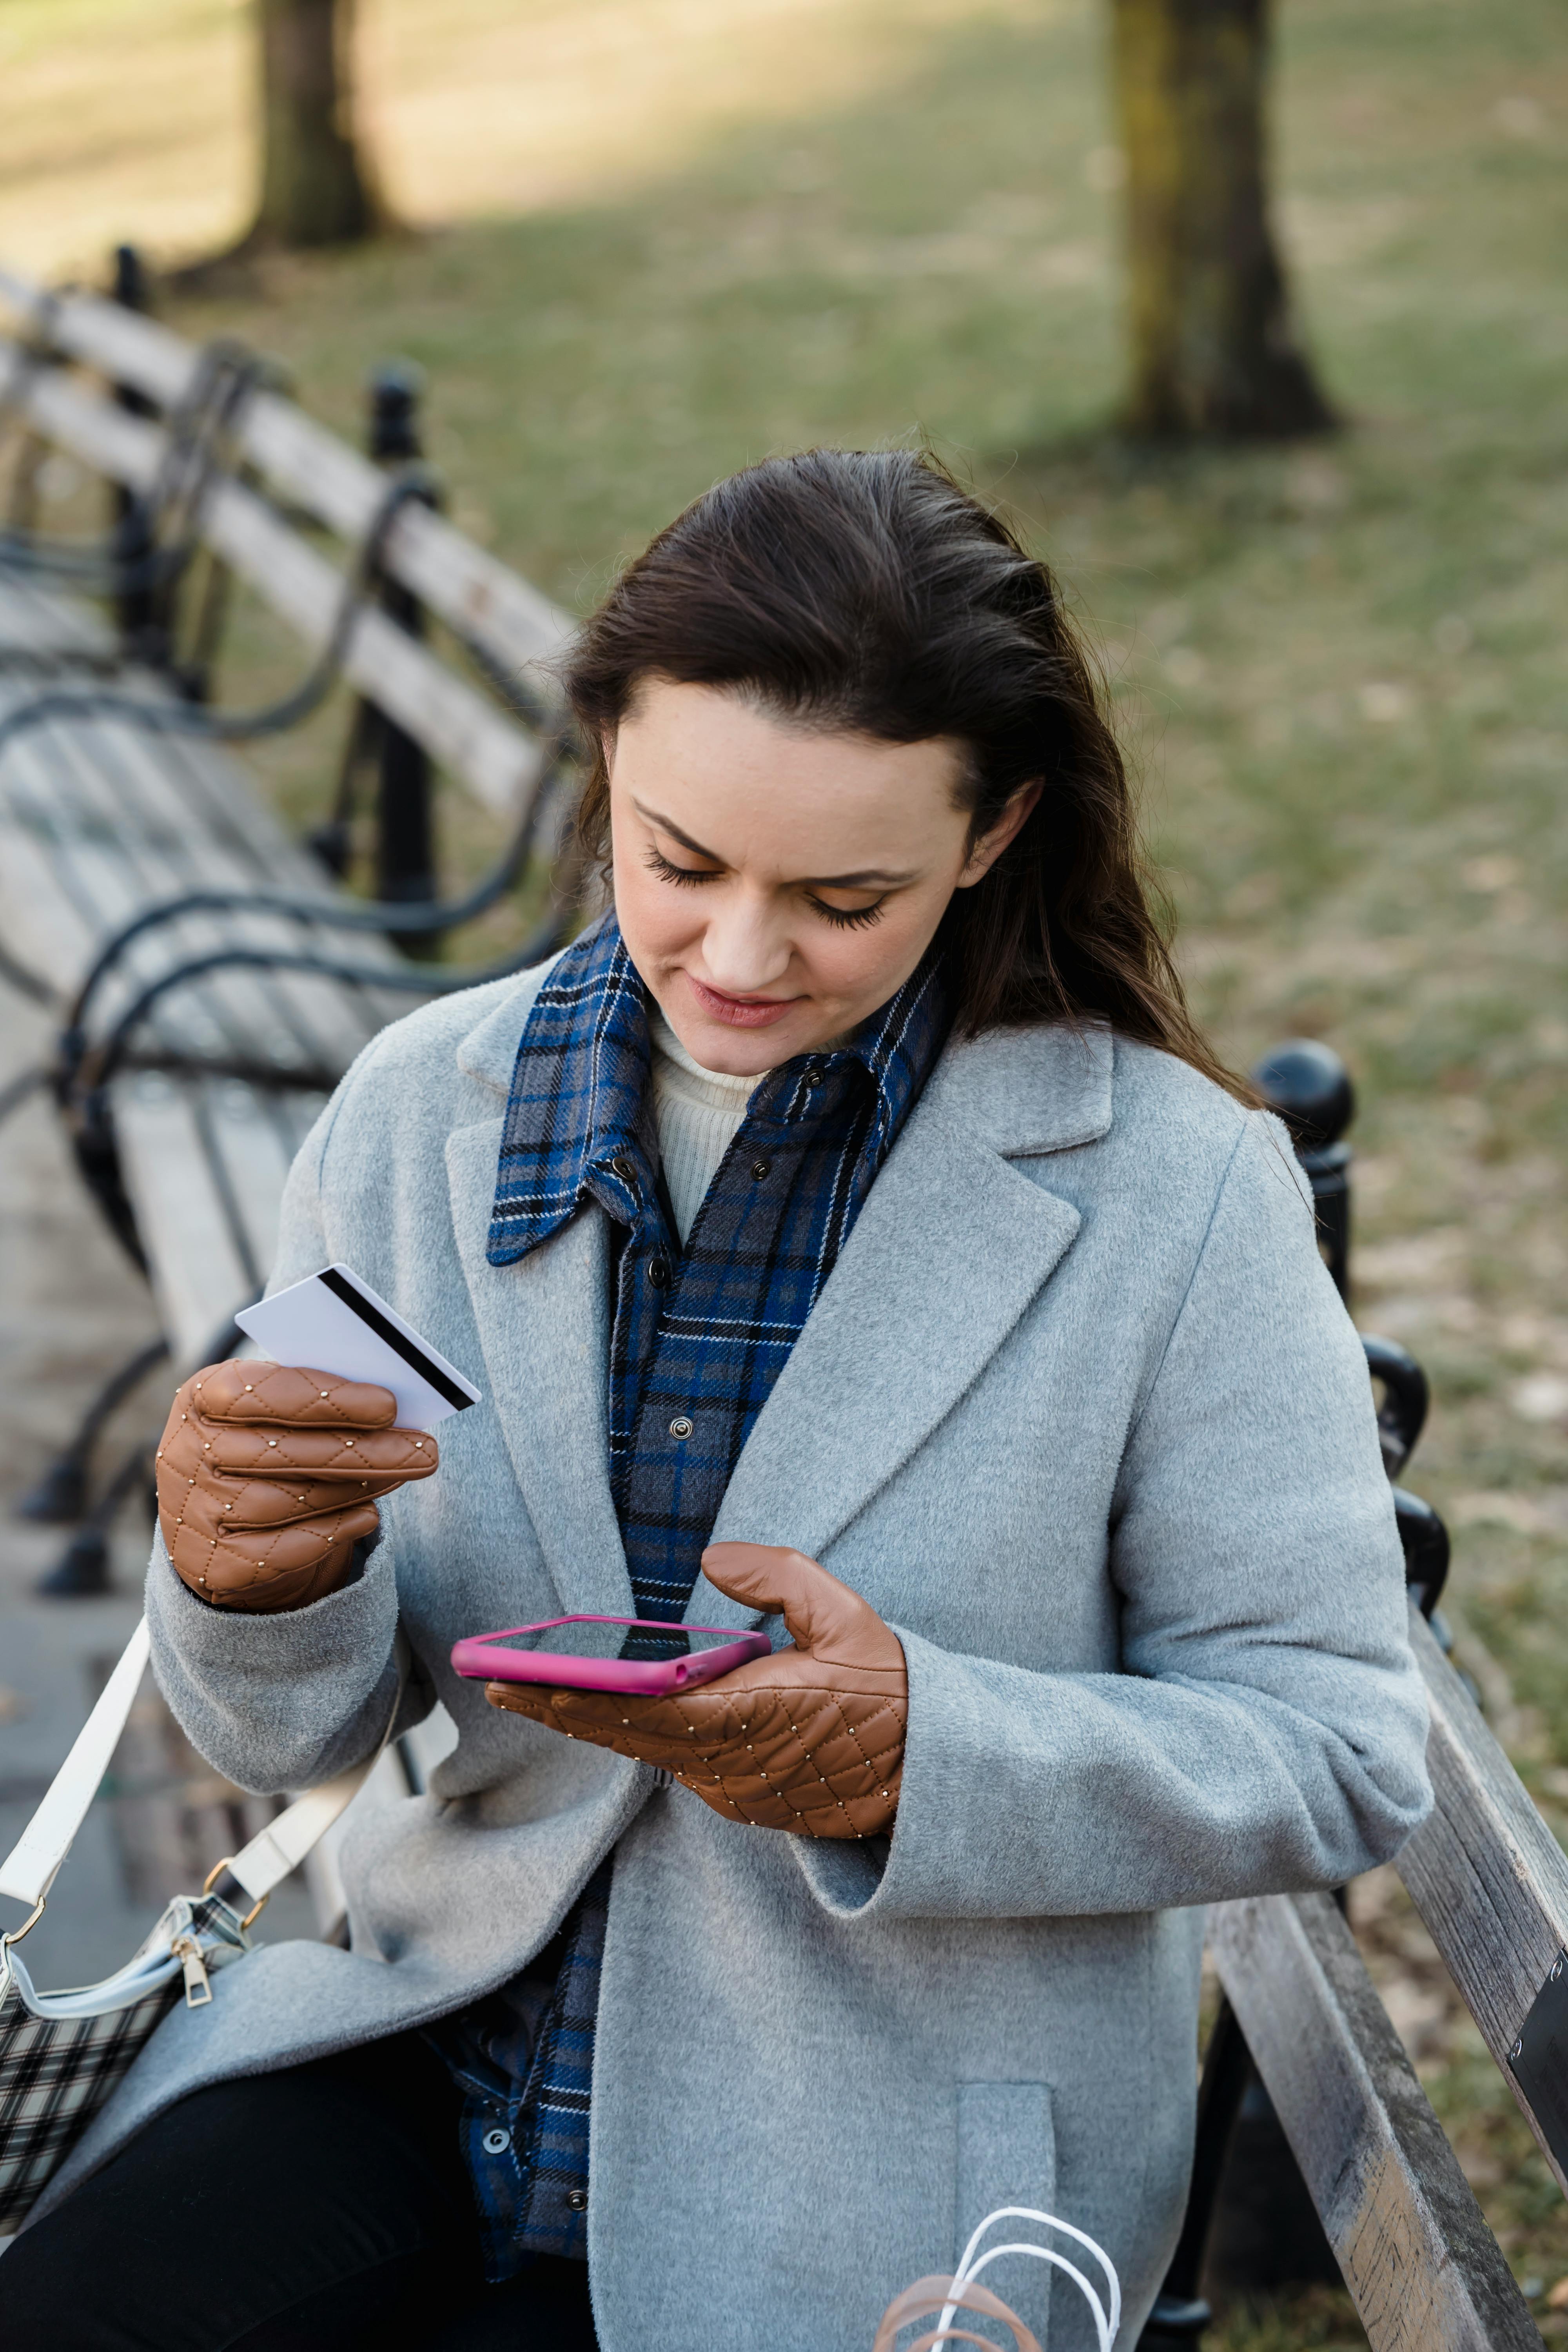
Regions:
<svg viewBox="0 0 1568 2352"><path fill-rule="evenodd" d="M0 2319L865 2352L1018 2201L1105 2241L1131 2345L1201 1905L1427 1806L1361 1348L1182 1009L1053 581L933 466L719 485L569 684L614 908L369 1047L275 1272L350 1263L489 1402L428 1477L386 1392L219 1367L160 1472L155 1663L216 1769L367 1755L397 1625L456 1752L357 1825L348 1952L169 2018ZM451 1675L564 1611L795 1651L675 1724Z"/></svg>

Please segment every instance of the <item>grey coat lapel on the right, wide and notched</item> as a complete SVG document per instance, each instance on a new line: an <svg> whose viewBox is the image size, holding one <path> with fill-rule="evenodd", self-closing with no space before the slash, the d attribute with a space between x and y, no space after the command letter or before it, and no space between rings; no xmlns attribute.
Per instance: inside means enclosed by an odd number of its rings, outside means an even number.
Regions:
<svg viewBox="0 0 1568 2352"><path fill-rule="evenodd" d="M1006 1155L1105 1134L1110 1061L1110 1040L1039 1030L945 1056L757 1416L717 1541L820 1557L973 1385L1079 1230ZM759 1613L698 1576L686 1618Z"/></svg>

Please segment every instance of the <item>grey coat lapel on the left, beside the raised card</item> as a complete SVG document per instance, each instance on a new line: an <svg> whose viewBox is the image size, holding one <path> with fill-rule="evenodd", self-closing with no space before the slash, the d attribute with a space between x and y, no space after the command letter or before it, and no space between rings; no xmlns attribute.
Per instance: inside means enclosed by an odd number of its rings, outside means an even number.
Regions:
<svg viewBox="0 0 1568 2352"><path fill-rule="evenodd" d="M609 1221L588 1204L517 1265L491 1265L498 1160L498 1117L447 1141L451 1221L501 1435L562 1609L630 1616L609 1491Z"/></svg>

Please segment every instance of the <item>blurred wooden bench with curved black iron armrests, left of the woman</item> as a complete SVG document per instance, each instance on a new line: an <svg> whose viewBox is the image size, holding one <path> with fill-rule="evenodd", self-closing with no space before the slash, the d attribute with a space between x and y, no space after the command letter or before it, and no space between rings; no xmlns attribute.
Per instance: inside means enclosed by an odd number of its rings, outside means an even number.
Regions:
<svg viewBox="0 0 1568 2352"><path fill-rule="evenodd" d="M122 292L139 292L129 254ZM14 273L0 301L16 322L0 336L0 426L24 433L0 539L0 981L59 1018L56 1065L31 1077L54 1087L160 1322L24 1505L75 1522L45 1590L85 1595L108 1585L108 1529L146 1484L150 1439L94 1498L96 1432L155 1367L183 1376L240 1348L235 1310L266 1282L284 1176L329 1089L386 1021L463 978L421 948L529 861L550 873L543 920L498 969L536 962L569 917L571 771L538 668L569 623L433 508L409 463L407 372L374 379L367 459L270 390L249 353L197 353L127 301L54 299ZM113 541L28 529L42 452L113 485ZM343 569L306 536L322 529L348 543ZM205 703L228 576L315 656L261 724ZM110 619L71 588L99 590ZM235 746L303 720L339 677L357 694L339 807L306 847ZM508 835L447 908L435 767ZM355 790L376 800L376 906L331 873ZM362 1802L423 1785L444 1738L440 1719L421 1726ZM310 1865L327 1926L334 1849Z"/></svg>

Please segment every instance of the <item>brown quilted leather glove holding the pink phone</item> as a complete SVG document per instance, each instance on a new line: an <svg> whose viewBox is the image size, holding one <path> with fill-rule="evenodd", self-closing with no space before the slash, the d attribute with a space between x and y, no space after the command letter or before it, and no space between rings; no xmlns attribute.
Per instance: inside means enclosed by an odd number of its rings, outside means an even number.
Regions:
<svg viewBox="0 0 1568 2352"><path fill-rule="evenodd" d="M877 1837L898 1811L910 1719L898 1635L804 1552L712 1543L703 1573L752 1609L783 1609L795 1649L670 1698L536 1682L489 1682L484 1696L595 1748L663 1764L726 1820Z"/></svg>

